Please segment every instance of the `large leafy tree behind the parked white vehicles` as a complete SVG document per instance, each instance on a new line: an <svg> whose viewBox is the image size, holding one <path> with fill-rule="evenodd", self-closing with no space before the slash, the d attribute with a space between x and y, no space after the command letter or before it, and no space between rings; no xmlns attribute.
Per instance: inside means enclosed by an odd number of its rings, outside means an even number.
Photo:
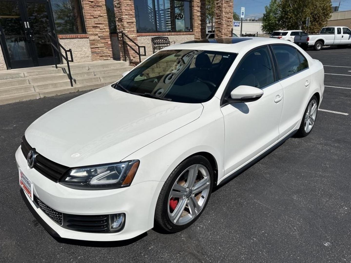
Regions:
<svg viewBox="0 0 351 263"><path fill-rule="evenodd" d="M310 32L326 26L332 13L330 0L271 0L263 15L264 32L278 29L307 30L306 19L310 18Z"/></svg>

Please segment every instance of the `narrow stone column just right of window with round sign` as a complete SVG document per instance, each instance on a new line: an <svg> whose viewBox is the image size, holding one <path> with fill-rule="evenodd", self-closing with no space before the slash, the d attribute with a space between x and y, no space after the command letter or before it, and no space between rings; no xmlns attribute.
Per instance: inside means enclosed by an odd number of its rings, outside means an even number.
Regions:
<svg viewBox="0 0 351 263"><path fill-rule="evenodd" d="M192 1L193 32L195 39L206 38L206 0Z"/></svg>

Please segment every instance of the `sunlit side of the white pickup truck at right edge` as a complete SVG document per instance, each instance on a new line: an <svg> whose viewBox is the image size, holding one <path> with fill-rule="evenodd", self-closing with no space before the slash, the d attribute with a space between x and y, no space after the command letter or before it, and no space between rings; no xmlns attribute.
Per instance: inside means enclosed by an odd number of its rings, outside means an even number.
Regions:
<svg viewBox="0 0 351 263"><path fill-rule="evenodd" d="M351 45L351 30L348 27L323 27L318 35L309 35L308 45L314 50L323 46Z"/></svg>

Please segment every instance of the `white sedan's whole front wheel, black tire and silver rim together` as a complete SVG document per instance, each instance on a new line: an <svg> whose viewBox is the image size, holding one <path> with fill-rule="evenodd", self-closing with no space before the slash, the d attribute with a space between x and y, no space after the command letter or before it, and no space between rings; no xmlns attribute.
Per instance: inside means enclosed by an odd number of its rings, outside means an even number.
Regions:
<svg viewBox="0 0 351 263"><path fill-rule="evenodd" d="M194 178L189 177L190 174L196 174L195 181L188 181ZM213 168L205 157L192 156L181 162L161 189L155 208L156 227L172 233L189 227L204 211L212 187Z"/></svg>

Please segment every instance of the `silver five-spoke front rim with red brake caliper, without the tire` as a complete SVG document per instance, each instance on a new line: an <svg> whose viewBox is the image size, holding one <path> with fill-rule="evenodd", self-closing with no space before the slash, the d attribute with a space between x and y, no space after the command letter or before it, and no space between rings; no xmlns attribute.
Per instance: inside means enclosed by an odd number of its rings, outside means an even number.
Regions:
<svg viewBox="0 0 351 263"><path fill-rule="evenodd" d="M176 225L192 221L203 209L210 191L210 172L201 164L185 169L173 184L168 197L168 216ZM176 203L171 209L170 201Z"/></svg>

